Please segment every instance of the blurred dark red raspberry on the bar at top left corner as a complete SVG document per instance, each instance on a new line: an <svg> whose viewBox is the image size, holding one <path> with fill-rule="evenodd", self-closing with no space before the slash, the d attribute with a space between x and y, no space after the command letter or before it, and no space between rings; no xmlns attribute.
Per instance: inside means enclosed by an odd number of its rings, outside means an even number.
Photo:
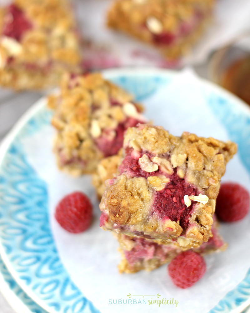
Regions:
<svg viewBox="0 0 250 313"><path fill-rule="evenodd" d="M2 34L8 37L12 37L17 41L20 41L22 35L28 29L32 28L32 24L27 20L22 10L20 10L14 4L9 6L7 19L8 21L4 25Z"/></svg>

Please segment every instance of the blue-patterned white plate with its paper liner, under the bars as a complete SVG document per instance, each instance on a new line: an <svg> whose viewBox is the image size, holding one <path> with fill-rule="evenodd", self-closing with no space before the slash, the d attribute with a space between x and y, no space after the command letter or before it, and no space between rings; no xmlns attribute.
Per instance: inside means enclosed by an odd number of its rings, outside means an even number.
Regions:
<svg viewBox="0 0 250 313"><path fill-rule="evenodd" d="M239 152L223 179L250 189L247 105L190 71L117 69L104 75L143 101L145 115L174 135L190 131L236 141ZM90 177L75 179L55 166L51 116L46 100L39 100L0 148L0 253L28 297L51 313L236 313L250 303L249 216L220 227L229 248L206 256L205 276L187 290L173 286L166 266L150 273L118 274L117 242L98 226ZM53 214L57 202L75 190L86 192L95 204L92 227L78 235L60 228ZM177 307L165 304L173 298ZM149 305L152 300L162 303Z"/></svg>

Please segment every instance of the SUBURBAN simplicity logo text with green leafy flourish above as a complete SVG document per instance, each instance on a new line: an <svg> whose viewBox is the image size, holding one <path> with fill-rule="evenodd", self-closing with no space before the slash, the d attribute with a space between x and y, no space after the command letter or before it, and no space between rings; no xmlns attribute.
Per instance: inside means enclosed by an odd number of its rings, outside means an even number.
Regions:
<svg viewBox="0 0 250 313"><path fill-rule="evenodd" d="M109 299L108 304L136 304L136 305L175 305L177 306L179 301L172 299L161 298L160 294L157 295L131 295L130 293L127 295L126 299ZM131 299L132 297L142 297ZM144 298L145 297L145 298ZM151 297L148 299L146 297ZM153 298L154 297L154 298Z"/></svg>

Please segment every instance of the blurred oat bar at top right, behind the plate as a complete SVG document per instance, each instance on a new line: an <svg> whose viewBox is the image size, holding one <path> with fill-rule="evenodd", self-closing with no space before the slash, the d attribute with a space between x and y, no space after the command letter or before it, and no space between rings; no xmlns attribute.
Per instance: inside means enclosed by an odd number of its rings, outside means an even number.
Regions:
<svg viewBox="0 0 250 313"><path fill-rule="evenodd" d="M117 0L108 26L157 47L165 57L186 54L211 19L214 0Z"/></svg>

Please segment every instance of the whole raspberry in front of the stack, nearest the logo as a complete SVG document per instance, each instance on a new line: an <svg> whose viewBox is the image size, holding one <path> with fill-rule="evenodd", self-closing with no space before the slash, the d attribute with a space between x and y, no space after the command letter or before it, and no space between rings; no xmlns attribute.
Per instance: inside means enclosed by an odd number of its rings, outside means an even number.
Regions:
<svg viewBox="0 0 250 313"><path fill-rule="evenodd" d="M168 273L173 283L183 289L194 285L205 271L204 258L191 250L178 254L168 265Z"/></svg>

